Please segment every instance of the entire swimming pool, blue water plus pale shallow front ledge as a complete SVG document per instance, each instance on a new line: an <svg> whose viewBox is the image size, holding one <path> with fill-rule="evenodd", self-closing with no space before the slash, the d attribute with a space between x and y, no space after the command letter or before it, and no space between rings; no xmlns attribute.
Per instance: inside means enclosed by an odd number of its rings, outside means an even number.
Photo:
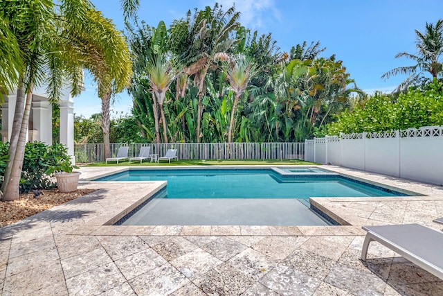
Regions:
<svg viewBox="0 0 443 296"><path fill-rule="evenodd" d="M404 196L316 168L131 169L96 181L168 181L124 225L327 225L310 197Z"/></svg>

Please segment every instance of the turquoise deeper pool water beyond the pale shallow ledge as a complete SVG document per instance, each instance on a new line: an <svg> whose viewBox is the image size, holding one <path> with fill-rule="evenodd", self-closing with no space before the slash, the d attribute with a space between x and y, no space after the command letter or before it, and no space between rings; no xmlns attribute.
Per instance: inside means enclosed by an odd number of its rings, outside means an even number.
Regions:
<svg viewBox="0 0 443 296"><path fill-rule="evenodd" d="M305 172L304 172L305 173ZM281 177L272 170L127 171L97 181L168 181L165 198L299 198L401 195L339 175Z"/></svg>

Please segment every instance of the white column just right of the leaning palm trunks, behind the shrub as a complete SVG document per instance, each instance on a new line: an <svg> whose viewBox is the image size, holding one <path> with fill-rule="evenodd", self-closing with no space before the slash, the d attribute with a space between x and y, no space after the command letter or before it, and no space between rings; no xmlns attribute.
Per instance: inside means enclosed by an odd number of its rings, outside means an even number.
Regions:
<svg viewBox="0 0 443 296"><path fill-rule="evenodd" d="M37 130L34 140L42 141L47 145L53 143L53 107L44 96L33 97L33 130Z"/></svg>

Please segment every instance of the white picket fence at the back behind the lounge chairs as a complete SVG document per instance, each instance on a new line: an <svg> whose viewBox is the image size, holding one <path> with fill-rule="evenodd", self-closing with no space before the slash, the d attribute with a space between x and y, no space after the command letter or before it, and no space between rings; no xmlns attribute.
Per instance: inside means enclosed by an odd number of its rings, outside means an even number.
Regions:
<svg viewBox="0 0 443 296"><path fill-rule="evenodd" d="M138 156L142 146L151 146L151 154L165 155L177 149L179 159L305 159L305 143L111 143L111 155L120 146L129 146L129 157ZM74 144L75 162L104 162L103 144Z"/></svg>

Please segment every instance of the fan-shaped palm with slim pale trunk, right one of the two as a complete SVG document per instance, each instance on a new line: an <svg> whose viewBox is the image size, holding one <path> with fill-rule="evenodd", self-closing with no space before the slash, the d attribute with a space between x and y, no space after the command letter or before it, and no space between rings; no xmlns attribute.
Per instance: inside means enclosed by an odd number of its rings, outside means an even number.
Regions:
<svg viewBox="0 0 443 296"><path fill-rule="evenodd" d="M235 111L239 103L240 96L248 86L249 80L255 75L255 67L251 58L239 55L232 63L225 63L226 77L228 78L230 87L234 91L233 108L230 112L228 143L232 141L233 128L235 123Z"/></svg>

